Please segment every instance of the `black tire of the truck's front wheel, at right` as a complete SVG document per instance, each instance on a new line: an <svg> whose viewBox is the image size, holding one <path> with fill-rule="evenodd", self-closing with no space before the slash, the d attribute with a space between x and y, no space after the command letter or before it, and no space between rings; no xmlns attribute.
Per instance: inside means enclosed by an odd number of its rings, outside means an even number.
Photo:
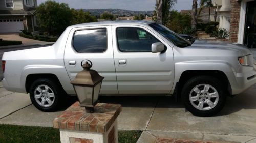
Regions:
<svg viewBox="0 0 256 143"><path fill-rule="evenodd" d="M205 93L201 91L202 86L205 87L205 85L206 86L210 85L211 87L213 87L208 90L208 93L206 93L206 96L204 96ZM200 90L200 92L198 92L198 93L196 93L194 91L194 89L197 86L198 86L198 89ZM218 92L218 100L217 100L217 97L211 98L210 92L212 92L212 91ZM201 95L202 94L201 92L203 93L203 96ZM214 92L212 92L212 93L214 93ZM195 97L196 100L198 100L198 101L190 102L190 94L191 94L191 97ZM194 96L193 96L193 94L194 94ZM181 96L182 96L185 108L188 111L190 111L193 115L202 116L202 117L213 116L216 113L218 113L219 111L221 111L221 109L224 107L225 102L226 102L226 94L227 94L227 92L226 92L226 89L224 88L222 82L220 82L217 78L211 77L211 76L195 76L195 77L189 79L184 84L184 87L182 88L182 92L181 92ZM193 100L193 99L191 99L191 100ZM212 107L210 107L208 102L205 103L206 100L207 101L213 100L216 103L214 105L211 104ZM204 102L202 102L202 101L204 101ZM198 103L198 105L197 105L197 103ZM201 106L201 108L199 108L200 104L202 104L203 107ZM194 106L197 106L197 108ZM204 106L206 106L206 107L204 107Z"/></svg>

